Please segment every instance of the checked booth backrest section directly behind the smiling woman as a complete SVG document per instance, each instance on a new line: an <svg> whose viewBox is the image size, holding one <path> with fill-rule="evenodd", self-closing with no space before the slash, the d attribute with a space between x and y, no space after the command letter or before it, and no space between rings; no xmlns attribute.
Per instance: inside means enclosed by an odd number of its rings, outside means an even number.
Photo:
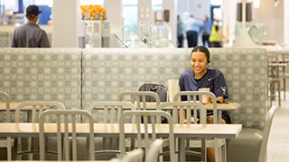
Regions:
<svg viewBox="0 0 289 162"><path fill-rule="evenodd" d="M191 49L83 49L82 107L94 101L116 101L122 91L144 83L167 85L191 69ZM222 71L228 102L241 103L231 112L234 123L263 129L267 112L266 49L210 49L211 68ZM99 114L101 115L101 114Z"/></svg>

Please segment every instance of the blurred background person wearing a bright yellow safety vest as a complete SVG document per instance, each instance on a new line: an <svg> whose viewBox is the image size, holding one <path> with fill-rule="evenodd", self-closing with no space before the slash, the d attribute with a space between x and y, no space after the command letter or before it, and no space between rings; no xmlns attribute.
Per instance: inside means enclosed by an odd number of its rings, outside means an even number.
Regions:
<svg viewBox="0 0 289 162"><path fill-rule="evenodd" d="M219 27L219 21L217 20L210 31L210 47L221 48L222 47L223 33Z"/></svg>

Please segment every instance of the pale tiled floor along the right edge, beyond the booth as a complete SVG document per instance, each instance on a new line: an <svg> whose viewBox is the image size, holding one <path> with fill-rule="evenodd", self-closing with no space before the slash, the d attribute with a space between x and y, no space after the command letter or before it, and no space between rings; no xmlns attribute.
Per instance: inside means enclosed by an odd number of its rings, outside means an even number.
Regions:
<svg viewBox="0 0 289 162"><path fill-rule="evenodd" d="M289 161L289 91L275 112L267 147L267 162Z"/></svg>

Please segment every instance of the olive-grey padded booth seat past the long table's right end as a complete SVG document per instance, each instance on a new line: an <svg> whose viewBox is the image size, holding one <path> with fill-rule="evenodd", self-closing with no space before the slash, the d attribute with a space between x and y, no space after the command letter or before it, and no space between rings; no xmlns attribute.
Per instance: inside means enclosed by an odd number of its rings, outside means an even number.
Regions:
<svg viewBox="0 0 289 162"><path fill-rule="evenodd" d="M228 161L258 161L262 140L262 130L252 128L242 129L238 138L227 139ZM242 152L242 154L239 154L239 152Z"/></svg>

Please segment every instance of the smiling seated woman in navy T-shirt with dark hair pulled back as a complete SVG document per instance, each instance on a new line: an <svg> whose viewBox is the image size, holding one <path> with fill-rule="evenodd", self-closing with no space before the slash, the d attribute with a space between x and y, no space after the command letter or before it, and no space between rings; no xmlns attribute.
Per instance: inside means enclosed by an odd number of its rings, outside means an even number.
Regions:
<svg viewBox="0 0 289 162"><path fill-rule="evenodd" d="M225 77L217 69L210 69L210 51L205 46L197 46L191 50L191 70L183 72L179 85L181 91L198 91L200 88L210 88L210 92L215 94L218 103L224 103L228 98L228 88ZM182 96L182 101L186 96ZM211 103L209 99L209 103ZM212 118L213 112L207 111L209 119ZM216 114L217 115L217 114ZM227 111L222 112L222 123L231 123ZM210 161L215 161L215 149L207 148Z"/></svg>

